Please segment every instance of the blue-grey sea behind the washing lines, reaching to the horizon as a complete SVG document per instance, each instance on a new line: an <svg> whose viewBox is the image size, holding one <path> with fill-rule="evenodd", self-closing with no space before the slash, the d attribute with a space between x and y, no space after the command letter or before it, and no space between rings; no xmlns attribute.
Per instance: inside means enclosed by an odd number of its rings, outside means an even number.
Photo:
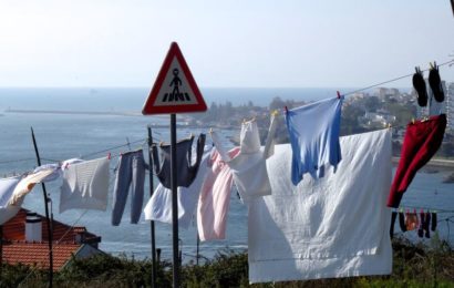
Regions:
<svg viewBox="0 0 454 288"><path fill-rule="evenodd" d="M336 95L336 89L202 89L202 92L208 105L227 101L234 105L243 105L251 101L255 105L266 106L276 96L282 100L312 101ZM140 115L148 93L149 89L146 88L0 89L0 176L22 174L37 166L31 138L33 128L42 164L73 157L91 160L111 153L112 193L113 169L120 153L143 147L147 160L147 125L157 125L153 128L156 142L169 140L169 128L166 127L169 123L168 115ZM115 112L118 115L10 112L17 110ZM122 113L130 114L121 115ZM208 130L209 127L178 128L177 137L187 137L190 133L197 135ZM220 134L226 145L231 146L227 137L238 135L239 127L220 131ZM443 183L443 179L452 172L453 169L422 169L402 202L402 206L411 207L411 210L437 210L437 234L451 244L454 243L454 184ZM111 225L112 195L106 212L59 213L60 185L59 181L47 183L54 219L72 226L85 226L89 232L102 237L100 249L106 253L137 259L151 257L151 224L143 216L138 224L130 224L130 203L126 203L122 223L114 227ZM144 206L149 198L148 181L145 183L145 191ZM40 185L25 197L23 207L44 215ZM398 223L395 232L398 235L402 234ZM419 238L416 232L402 235L414 241L431 241ZM156 247L162 249L162 258L172 259L172 226L156 223L155 240ZM194 225L188 229L179 229L179 246L183 261L195 260L197 230ZM235 193L231 194L226 239L200 243L199 257L210 259L226 249L247 249L247 207Z"/></svg>

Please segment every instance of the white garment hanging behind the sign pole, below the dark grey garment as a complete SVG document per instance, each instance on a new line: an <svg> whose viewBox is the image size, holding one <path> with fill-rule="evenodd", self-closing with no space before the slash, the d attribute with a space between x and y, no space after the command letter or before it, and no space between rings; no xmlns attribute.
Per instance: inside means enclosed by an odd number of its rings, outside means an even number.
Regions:
<svg viewBox="0 0 454 288"><path fill-rule="evenodd" d="M198 167L197 176L189 187L178 187L178 226L187 229L195 213L202 185L208 171L207 161L211 148L206 146ZM196 153L193 153L196 157ZM144 208L146 220L157 220L172 224L172 189L167 189L161 183L153 193Z"/></svg>

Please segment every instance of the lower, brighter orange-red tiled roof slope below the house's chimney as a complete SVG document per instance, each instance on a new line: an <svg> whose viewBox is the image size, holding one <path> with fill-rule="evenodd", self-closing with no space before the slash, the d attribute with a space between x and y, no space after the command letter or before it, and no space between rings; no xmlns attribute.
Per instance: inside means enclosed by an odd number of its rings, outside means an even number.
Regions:
<svg viewBox="0 0 454 288"><path fill-rule="evenodd" d="M54 244L53 270L60 270L76 254L83 244ZM3 244L3 261L8 264L35 265L49 268L49 246L47 243L10 243Z"/></svg>

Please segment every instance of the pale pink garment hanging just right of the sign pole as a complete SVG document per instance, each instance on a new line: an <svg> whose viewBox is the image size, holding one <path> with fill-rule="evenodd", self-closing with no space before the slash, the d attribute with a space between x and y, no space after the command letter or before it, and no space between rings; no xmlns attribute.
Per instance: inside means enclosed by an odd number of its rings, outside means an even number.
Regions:
<svg viewBox="0 0 454 288"><path fill-rule="evenodd" d="M230 157L239 153L239 147L228 152ZM225 239L227 212L230 205L233 175L228 165L215 148L208 160L208 172L202 186L197 205L198 237L202 241Z"/></svg>

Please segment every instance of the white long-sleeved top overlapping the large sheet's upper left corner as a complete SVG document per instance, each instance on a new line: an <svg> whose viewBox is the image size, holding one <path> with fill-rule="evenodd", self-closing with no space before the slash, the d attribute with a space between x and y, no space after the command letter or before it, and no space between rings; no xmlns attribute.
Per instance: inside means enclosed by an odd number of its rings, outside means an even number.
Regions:
<svg viewBox="0 0 454 288"><path fill-rule="evenodd" d="M276 121L271 119L268 140L264 151L260 151L260 136L255 120L244 122L240 133L240 153L230 158L225 152L216 132L211 132L211 138L218 148L223 160L231 169L234 182L241 199L248 203L250 198L271 194L271 185L268 178L266 158L274 153L274 133L276 132Z"/></svg>

